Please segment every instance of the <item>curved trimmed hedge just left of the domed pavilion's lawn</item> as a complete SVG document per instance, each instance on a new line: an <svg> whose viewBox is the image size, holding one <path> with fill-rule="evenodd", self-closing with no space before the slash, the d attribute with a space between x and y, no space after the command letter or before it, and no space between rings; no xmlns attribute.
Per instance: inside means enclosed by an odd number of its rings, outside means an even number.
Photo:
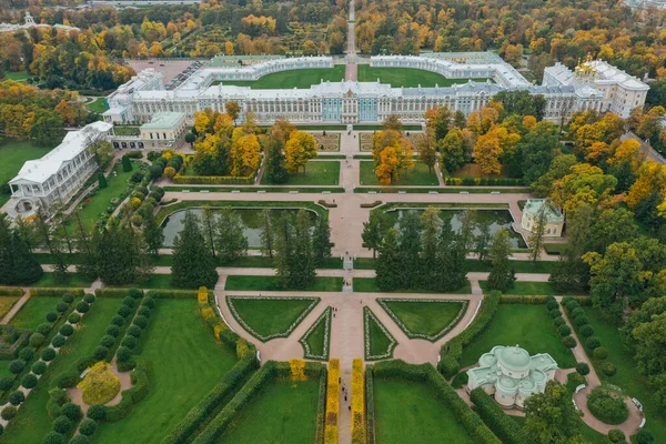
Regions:
<svg viewBox="0 0 666 444"><path fill-rule="evenodd" d="M437 363L437 370L446 377L455 376L461 370L460 359L463 354L463 347L467 346L472 340L483 332L491 320L497 313L497 307L502 301L502 293L498 291L490 292L481 304L478 313L474 321L461 334L442 345L440 351L441 360Z"/></svg>

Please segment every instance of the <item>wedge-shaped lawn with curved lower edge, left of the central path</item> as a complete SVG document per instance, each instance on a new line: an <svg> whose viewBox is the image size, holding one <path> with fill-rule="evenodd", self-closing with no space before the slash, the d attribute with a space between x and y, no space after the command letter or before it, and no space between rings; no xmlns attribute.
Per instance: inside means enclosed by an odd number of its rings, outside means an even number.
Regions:
<svg viewBox="0 0 666 444"><path fill-rule="evenodd" d="M284 337L297 320L315 307L319 300L313 297L297 299L254 299L229 296L226 303L236 320L249 326L249 332L260 341L268 336ZM235 312L234 312L235 309ZM297 325L297 324L296 324Z"/></svg>

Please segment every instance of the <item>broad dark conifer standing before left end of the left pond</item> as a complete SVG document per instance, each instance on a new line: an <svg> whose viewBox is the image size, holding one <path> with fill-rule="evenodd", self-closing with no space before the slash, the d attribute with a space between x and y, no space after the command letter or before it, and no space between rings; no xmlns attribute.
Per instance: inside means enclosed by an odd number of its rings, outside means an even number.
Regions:
<svg viewBox="0 0 666 444"><path fill-rule="evenodd" d="M215 260L205 244L199 218L188 211L183 229L173 241L171 283L178 289L212 289L216 282Z"/></svg>

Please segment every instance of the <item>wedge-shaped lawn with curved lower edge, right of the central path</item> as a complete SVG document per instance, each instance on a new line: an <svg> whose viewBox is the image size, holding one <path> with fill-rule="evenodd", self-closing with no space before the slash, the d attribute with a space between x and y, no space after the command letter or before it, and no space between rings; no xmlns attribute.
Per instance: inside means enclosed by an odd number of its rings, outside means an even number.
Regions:
<svg viewBox="0 0 666 444"><path fill-rule="evenodd" d="M445 329L451 329L453 321L462 315L461 311L465 306L463 302L458 301L384 300L384 304L402 321L407 336L423 334L432 336L431 341L436 340ZM401 325L398 324L398 326Z"/></svg>

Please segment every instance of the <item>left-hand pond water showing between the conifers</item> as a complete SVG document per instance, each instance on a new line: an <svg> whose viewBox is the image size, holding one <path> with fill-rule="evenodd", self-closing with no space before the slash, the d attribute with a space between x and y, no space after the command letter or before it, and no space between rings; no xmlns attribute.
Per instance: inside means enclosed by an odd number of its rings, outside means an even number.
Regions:
<svg viewBox="0 0 666 444"><path fill-rule="evenodd" d="M245 225L243 234L245 234L245 238L248 238L248 245L251 249L256 249L261 246L261 218L263 215L263 208L234 209L234 211L238 214L240 214L241 220L243 221L243 225ZM203 210L201 208L178 210L169 214L167 219L164 219L164 222L162 222L162 226L164 229L164 248L169 249L173 246L173 240L175 239L178 233L180 233L183 229L183 221L188 211L191 211L192 213L196 214L196 216L201 220L201 214L203 213ZM275 218L283 212L290 212L295 215L299 209L269 209L269 211L271 212L271 216ZM306 211L307 214L310 214L311 223L314 226L316 213L312 210Z"/></svg>

